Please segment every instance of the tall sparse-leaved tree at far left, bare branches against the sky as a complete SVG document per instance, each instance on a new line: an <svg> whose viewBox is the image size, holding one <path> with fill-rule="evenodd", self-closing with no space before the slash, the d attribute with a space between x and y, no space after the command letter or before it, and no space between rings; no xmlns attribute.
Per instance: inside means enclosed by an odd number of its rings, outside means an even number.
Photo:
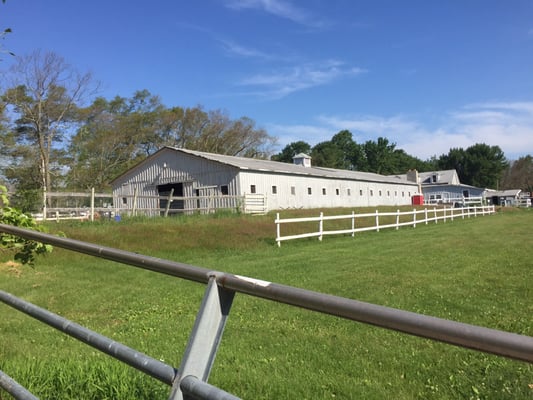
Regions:
<svg viewBox="0 0 533 400"><path fill-rule="evenodd" d="M11 155L20 161L25 154L31 154L40 189L46 193L54 184L54 166L60 164L58 156L62 153L58 145L76 122L76 110L89 88L91 76L79 74L55 53L40 51L19 58L10 72L14 78L2 99L15 116L16 146ZM35 154L29 151L17 154L20 148L31 148ZM12 167L16 168L16 163Z"/></svg>

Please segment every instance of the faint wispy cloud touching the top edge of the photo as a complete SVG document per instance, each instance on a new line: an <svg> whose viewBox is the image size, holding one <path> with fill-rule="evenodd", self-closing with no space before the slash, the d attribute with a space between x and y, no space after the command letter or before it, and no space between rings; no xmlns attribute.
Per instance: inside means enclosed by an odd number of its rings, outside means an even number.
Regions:
<svg viewBox="0 0 533 400"><path fill-rule="evenodd" d="M238 11L261 10L308 27L319 28L324 25L319 18L285 0L228 0L226 6Z"/></svg>

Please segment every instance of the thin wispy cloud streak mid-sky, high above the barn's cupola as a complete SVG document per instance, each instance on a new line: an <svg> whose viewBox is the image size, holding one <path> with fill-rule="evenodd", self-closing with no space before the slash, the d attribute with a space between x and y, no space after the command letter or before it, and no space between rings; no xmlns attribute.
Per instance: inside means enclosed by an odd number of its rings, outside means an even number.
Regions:
<svg viewBox="0 0 533 400"><path fill-rule="evenodd" d="M325 85L342 77L357 76L367 72L362 68L346 67L344 63L330 60L308 63L279 70L270 74L257 74L243 79L239 84L250 87L250 94L267 98L282 98L291 93Z"/></svg>

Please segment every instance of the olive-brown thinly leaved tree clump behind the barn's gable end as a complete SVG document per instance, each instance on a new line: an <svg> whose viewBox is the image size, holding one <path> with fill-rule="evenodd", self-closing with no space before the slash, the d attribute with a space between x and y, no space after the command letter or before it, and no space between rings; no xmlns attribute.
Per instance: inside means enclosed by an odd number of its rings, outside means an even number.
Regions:
<svg viewBox="0 0 533 400"><path fill-rule="evenodd" d="M246 117L232 120L201 107L166 108L147 90L131 98L97 98L80 111L81 126L68 147L68 185L98 190L163 146L265 158L273 141Z"/></svg>

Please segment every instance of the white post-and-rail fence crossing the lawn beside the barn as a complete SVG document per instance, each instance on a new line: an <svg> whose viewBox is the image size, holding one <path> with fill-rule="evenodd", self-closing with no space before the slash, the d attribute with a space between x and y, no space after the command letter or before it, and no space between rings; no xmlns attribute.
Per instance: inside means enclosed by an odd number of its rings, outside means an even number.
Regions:
<svg viewBox="0 0 533 400"><path fill-rule="evenodd" d="M397 210L396 212L379 212L379 210L376 210L375 213L366 213L366 214L356 214L354 211L352 211L349 215L330 215L330 216L324 216L324 213L320 213L320 216L318 217L310 217L310 218L286 218L281 219L279 217L279 213L276 214L276 220L274 221L276 224L276 242L278 243L278 247L281 246L281 242L284 240L292 240L292 239L302 239L302 238L308 238L308 237L318 237L318 240L322 240L322 238L325 235L346 235L351 234L352 236L355 236L356 232L364 232L364 231L377 231L379 232L380 229L386 229L386 228L395 228L398 229L400 226L412 226L416 227L417 224L428 224L429 222L435 222L438 223L438 221L446 222L447 220L453 221L454 218L470 218L471 216L477 217L478 215L489 215L493 214L495 212L494 205L491 206L472 206L472 207L461 207L461 208L433 208L428 210L427 208L423 210L417 210L413 209L413 211L400 211ZM388 217L390 220L393 218L395 220L394 223L390 223L387 221L387 223L380 224L380 218ZM368 219L370 219L373 224L366 224L365 226L358 227L357 221L361 221L363 218L366 219L365 222L368 222ZM336 230L325 230L324 229L324 221L333 221L333 220L349 220L351 222L351 226L344 229L336 229ZM288 235L288 236L281 236L281 225L282 224L291 224L291 223L303 223L303 222L318 222L318 230L314 232L309 233L301 233L297 235ZM362 221L361 221L362 222ZM381 222L383 222L383 219L381 219Z"/></svg>

